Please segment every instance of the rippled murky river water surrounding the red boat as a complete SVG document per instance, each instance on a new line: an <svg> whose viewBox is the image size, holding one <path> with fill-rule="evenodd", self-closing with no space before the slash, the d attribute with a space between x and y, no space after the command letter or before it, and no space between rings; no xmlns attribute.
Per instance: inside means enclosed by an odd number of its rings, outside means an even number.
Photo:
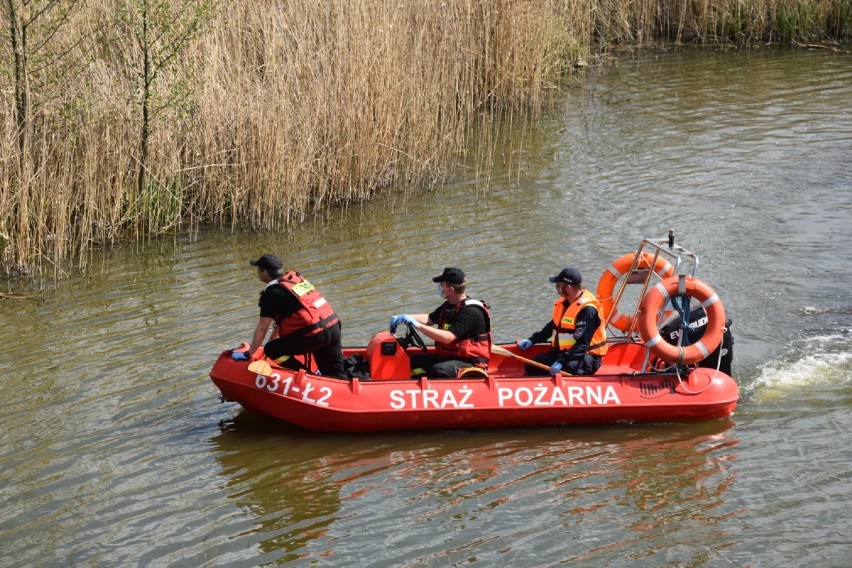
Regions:
<svg viewBox="0 0 852 568"><path fill-rule="evenodd" d="M852 539L852 60L690 53L590 71L486 184L293 234L118 248L0 302L3 566L846 565ZM507 165L519 170L507 171ZM220 404L274 252L348 345L468 273L495 335L674 228L734 319L729 422L316 434Z"/></svg>

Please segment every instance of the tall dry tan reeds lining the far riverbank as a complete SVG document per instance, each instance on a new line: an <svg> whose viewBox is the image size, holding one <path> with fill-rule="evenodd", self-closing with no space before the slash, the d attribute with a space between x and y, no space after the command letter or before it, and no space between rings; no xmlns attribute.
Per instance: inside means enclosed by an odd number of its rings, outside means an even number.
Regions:
<svg viewBox="0 0 852 568"><path fill-rule="evenodd" d="M837 49L852 28L850 0L0 3L0 272L56 279L95 246L440 183L621 47Z"/></svg>

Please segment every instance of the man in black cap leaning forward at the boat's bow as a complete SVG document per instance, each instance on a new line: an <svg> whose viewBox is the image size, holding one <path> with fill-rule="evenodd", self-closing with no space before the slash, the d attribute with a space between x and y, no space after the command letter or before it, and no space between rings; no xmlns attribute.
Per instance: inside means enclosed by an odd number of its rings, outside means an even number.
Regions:
<svg viewBox="0 0 852 568"><path fill-rule="evenodd" d="M291 355L312 353L320 373L347 378L343 369L340 319L319 290L298 272L282 273L281 261L271 254L264 254L249 264L257 267L257 277L266 287L260 293L260 318L248 354L234 352L231 357L248 359L275 322L277 327L272 339L263 348L266 357L282 367L299 369L301 363Z"/></svg>

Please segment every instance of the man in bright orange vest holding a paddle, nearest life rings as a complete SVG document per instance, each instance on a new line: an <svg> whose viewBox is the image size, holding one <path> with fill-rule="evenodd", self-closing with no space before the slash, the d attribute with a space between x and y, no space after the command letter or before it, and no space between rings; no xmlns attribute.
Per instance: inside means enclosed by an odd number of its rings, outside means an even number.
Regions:
<svg viewBox="0 0 852 568"><path fill-rule="evenodd" d="M563 269L550 281L556 284L560 296L553 303L553 317L529 339L518 341L518 347L523 351L533 343L549 340L552 349L534 359L549 365L551 375L562 370L572 375L593 375L607 351L603 307L594 294L583 289L583 277L575 268ZM546 375L547 371L527 365L526 373Z"/></svg>

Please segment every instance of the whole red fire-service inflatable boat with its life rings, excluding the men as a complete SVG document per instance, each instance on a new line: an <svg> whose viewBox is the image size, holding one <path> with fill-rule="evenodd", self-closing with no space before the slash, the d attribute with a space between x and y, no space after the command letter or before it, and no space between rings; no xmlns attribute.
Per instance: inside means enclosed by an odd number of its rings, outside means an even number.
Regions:
<svg viewBox="0 0 852 568"><path fill-rule="evenodd" d="M522 352L515 345L495 345L487 375L472 371L456 379L413 380L409 354L433 348L422 345L409 329L405 337L382 332L366 347L346 349L350 360L363 364L360 378L296 372L263 359L233 361L231 350L219 355L210 377L224 400L314 430L505 428L731 416L739 397L729 375L731 323L715 292L694 274L683 274L684 261L692 260L694 273L697 258L674 245L671 236L668 241L645 239L630 262L624 258L601 277L598 295L607 319L619 325L610 325L617 337L610 339L603 365L592 376L525 376L525 364L534 363L531 359L549 346ZM613 280L621 285L614 286ZM643 285L632 316L616 309L628 284ZM608 295L613 292L614 298ZM677 316L670 301L676 296L697 300L695 310L681 308L688 317ZM303 362L311 368L310 361Z"/></svg>

